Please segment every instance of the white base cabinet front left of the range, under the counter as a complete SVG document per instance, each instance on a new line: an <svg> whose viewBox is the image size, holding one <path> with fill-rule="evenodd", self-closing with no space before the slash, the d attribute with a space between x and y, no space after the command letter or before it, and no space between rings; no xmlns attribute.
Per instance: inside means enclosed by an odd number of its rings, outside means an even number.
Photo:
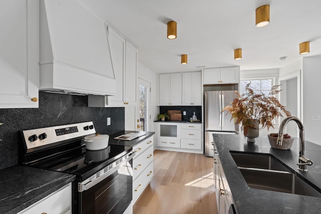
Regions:
<svg viewBox="0 0 321 214"><path fill-rule="evenodd" d="M51 193L18 214L71 214L71 183Z"/></svg>

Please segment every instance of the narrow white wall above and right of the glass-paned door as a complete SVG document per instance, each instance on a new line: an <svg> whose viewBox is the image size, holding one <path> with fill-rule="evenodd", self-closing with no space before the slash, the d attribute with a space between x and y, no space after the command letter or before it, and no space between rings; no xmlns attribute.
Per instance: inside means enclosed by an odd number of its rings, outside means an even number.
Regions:
<svg viewBox="0 0 321 214"><path fill-rule="evenodd" d="M156 106L156 97L157 97L156 96L157 95L156 73L150 70L149 68L147 68L146 66L144 66L142 63L138 62L137 78L150 82L150 88L151 88L151 92L150 92L150 115L151 115L150 128L151 129L150 131L154 131L155 130L153 127L154 123L152 121L156 120L157 114L158 114L158 108Z"/></svg>

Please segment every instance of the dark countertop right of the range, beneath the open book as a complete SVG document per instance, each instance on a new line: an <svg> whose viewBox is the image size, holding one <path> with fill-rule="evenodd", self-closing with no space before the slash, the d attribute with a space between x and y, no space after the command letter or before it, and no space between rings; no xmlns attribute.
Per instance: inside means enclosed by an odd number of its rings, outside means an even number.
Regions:
<svg viewBox="0 0 321 214"><path fill-rule="evenodd" d="M116 134L111 134L109 135L109 144L111 145L121 145L121 146L135 146L137 143L140 143L141 141L145 140L146 138L152 136L153 134L155 134L155 132L152 131L145 131L144 133L146 133L145 135L138 137L136 139L133 140L118 140L118 139L114 139L114 137L118 137L120 135L123 134L129 134L131 132L135 132L135 133L139 133L139 131L120 131L117 132Z"/></svg>

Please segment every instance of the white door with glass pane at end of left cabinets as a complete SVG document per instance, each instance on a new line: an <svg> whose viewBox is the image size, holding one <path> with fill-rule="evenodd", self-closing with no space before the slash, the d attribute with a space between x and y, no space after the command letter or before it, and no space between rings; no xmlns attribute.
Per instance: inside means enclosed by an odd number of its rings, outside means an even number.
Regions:
<svg viewBox="0 0 321 214"><path fill-rule="evenodd" d="M150 130L150 82L137 78L136 131Z"/></svg>

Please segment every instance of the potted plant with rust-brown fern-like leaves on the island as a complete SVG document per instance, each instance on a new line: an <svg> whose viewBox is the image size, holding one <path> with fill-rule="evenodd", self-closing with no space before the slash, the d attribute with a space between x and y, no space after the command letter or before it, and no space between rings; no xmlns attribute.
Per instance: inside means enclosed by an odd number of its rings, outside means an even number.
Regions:
<svg viewBox="0 0 321 214"><path fill-rule="evenodd" d="M225 106L222 112L230 113L231 120L234 119L234 124L241 124L244 136L254 130L257 133L256 137L258 137L259 129L266 127L269 130L270 127L274 128L272 120L279 116L283 117L281 111L286 116L290 116L291 113L275 97L281 91L277 90L279 85L272 86L268 94L255 94L250 88L250 84L251 82L246 84L244 94L236 92L237 98L233 100L230 106ZM248 141L251 141L251 139L248 139ZM255 142L255 139L252 142Z"/></svg>

